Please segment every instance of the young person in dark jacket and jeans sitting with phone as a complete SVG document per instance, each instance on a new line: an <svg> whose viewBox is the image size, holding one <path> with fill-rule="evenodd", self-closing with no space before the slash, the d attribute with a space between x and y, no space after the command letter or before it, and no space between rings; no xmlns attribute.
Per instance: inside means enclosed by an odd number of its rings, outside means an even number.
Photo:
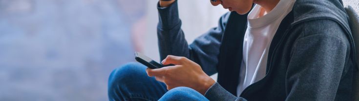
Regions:
<svg viewBox="0 0 359 101"><path fill-rule="evenodd" d="M161 60L175 66L146 69L131 63L114 70L110 101L352 100L358 68L341 0L211 3L233 12L188 45L177 1L160 0ZM218 83L208 76L216 72Z"/></svg>

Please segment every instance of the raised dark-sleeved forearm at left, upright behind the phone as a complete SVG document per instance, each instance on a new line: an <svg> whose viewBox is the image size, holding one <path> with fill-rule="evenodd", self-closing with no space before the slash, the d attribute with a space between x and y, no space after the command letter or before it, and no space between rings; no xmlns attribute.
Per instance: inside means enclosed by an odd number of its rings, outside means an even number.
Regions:
<svg viewBox="0 0 359 101"><path fill-rule="evenodd" d="M160 58L163 60L167 55L175 55L190 59L190 49L181 30L177 1L173 1L168 7L160 7L160 4L158 4L159 23L157 36Z"/></svg>

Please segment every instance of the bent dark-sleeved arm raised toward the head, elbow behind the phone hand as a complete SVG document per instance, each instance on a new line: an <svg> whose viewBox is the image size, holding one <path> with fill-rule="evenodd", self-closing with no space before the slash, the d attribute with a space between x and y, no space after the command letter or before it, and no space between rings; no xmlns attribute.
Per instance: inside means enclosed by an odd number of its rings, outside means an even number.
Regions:
<svg viewBox="0 0 359 101"><path fill-rule="evenodd" d="M158 5L158 12L157 36L161 61L167 55L184 56L199 64L207 75L216 73L217 55L229 13L219 19L218 27L197 37L189 45L181 29L177 1L168 7Z"/></svg>

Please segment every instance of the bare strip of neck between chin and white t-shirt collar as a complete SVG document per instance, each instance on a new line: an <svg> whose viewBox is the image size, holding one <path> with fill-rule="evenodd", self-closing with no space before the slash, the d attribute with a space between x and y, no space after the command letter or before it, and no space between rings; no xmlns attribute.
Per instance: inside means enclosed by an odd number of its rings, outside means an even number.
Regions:
<svg viewBox="0 0 359 101"><path fill-rule="evenodd" d="M279 0L253 0L253 3L262 6L266 12L271 12L278 2Z"/></svg>

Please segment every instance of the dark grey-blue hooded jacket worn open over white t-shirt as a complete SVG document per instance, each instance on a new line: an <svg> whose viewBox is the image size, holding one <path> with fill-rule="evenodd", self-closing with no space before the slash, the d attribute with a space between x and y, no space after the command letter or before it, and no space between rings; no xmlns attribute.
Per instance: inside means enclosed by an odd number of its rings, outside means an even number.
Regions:
<svg viewBox="0 0 359 101"><path fill-rule="evenodd" d="M198 63L218 83L205 97L211 101L350 101L355 47L349 18L339 0L296 0L272 40L266 76L236 97L247 16L235 12L218 27L188 45L181 30L177 1L158 8L161 60L184 56Z"/></svg>

